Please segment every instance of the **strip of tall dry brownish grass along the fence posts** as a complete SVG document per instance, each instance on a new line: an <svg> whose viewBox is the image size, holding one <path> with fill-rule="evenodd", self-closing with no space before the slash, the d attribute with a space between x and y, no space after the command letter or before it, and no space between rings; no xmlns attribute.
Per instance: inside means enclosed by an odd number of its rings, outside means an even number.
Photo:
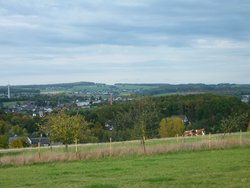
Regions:
<svg viewBox="0 0 250 188"><path fill-rule="evenodd" d="M1 150L0 165L24 165L249 146L250 133L234 133L227 135L216 134L195 137L151 139L146 141L146 150L144 150L139 140L114 142L111 144L111 147L110 143L82 144L78 145L78 152L75 152L74 145L71 145L67 151L62 146L54 147L52 150L49 147L27 148Z"/></svg>

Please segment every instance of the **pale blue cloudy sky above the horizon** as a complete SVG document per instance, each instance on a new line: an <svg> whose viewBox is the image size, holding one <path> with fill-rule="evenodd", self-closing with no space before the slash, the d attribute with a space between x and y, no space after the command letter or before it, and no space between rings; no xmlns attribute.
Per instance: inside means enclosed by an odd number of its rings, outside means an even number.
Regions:
<svg viewBox="0 0 250 188"><path fill-rule="evenodd" d="M249 0L0 0L0 85L250 84Z"/></svg>

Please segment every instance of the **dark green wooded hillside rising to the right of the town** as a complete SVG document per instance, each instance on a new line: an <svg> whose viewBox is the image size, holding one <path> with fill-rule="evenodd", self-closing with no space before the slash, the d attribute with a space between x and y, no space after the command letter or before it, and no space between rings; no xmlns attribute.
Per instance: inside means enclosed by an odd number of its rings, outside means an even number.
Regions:
<svg viewBox="0 0 250 188"><path fill-rule="evenodd" d="M204 128L206 132L221 133L246 131L250 117L249 103L238 98L214 94L172 95L162 97L143 97L113 106L80 111L95 128L101 127L96 135L99 141L107 139L105 123L113 126L114 140L131 140L144 134L147 138L158 138L159 124L167 117L186 116L188 122L184 129ZM223 120L240 118L237 126L226 129ZM143 130L143 131L142 131Z"/></svg>

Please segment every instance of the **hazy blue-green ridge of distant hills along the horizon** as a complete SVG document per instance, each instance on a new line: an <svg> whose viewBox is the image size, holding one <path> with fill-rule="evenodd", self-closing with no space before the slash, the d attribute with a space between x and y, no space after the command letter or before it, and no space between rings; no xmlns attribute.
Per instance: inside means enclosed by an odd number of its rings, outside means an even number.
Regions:
<svg viewBox="0 0 250 188"><path fill-rule="evenodd" d="M75 82L42 85L11 86L12 93L40 93L40 92L82 92L84 93L121 93L136 95L168 95L185 93L219 93L226 95L249 95L250 84L151 84L151 83L116 83L107 85L94 82ZM0 86L0 94L6 96L7 87Z"/></svg>

